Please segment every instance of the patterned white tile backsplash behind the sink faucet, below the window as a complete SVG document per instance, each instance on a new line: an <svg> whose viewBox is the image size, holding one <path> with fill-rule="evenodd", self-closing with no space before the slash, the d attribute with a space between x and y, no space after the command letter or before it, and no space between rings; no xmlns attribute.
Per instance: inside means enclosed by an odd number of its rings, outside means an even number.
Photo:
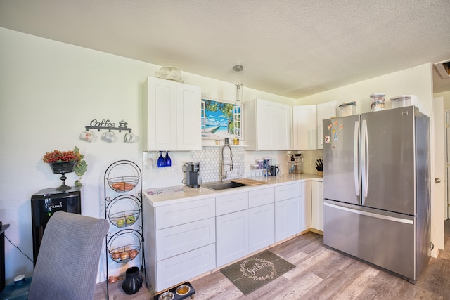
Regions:
<svg viewBox="0 0 450 300"><path fill-rule="evenodd" d="M244 148L238 145L231 145L233 155L233 171L230 171L230 148L224 148L224 164L226 180L240 178L244 176ZM191 160L200 162L200 176L203 183L220 181L221 178L221 153L222 146L203 146L201 151L191 152Z"/></svg>

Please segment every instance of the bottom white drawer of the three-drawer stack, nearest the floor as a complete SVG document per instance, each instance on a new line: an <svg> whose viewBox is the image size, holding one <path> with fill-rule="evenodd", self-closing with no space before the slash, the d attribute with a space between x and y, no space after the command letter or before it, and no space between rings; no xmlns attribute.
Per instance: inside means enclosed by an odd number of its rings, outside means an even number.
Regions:
<svg viewBox="0 0 450 300"><path fill-rule="evenodd" d="M155 292L161 292L216 268L216 244L158 261L157 268Z"/></svg>

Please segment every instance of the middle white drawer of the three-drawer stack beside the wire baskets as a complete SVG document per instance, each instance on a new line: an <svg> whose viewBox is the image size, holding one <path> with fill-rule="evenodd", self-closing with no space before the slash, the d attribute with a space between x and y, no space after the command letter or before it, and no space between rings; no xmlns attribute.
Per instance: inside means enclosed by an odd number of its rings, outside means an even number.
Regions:
<svg viewBox="0 0 450 300"><path fill-rule="evenodd" d="M156 231L156 260L161 261L216 242L215 218Z"/></svg>

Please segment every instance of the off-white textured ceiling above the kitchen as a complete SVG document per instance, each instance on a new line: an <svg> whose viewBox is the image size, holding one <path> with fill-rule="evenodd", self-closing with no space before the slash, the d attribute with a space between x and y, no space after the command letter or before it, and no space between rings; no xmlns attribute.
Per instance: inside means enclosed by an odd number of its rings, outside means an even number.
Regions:
<svg viewBox="0 0 450 300"><path fill-rule="evenodd" d="M450 60L449 0L0 0L0 27L229 82L240 64L290 98Z"/></svg>

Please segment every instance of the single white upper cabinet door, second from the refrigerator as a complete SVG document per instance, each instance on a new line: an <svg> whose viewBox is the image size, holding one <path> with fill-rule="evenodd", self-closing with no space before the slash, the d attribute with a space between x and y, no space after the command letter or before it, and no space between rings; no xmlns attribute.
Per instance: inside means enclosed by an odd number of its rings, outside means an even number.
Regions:
<svg viewBox="0 0 450 300"><path fill-rule="evenodd" d="M293 149L314 150L317 148L316 105L293 107Z"/></svg>

